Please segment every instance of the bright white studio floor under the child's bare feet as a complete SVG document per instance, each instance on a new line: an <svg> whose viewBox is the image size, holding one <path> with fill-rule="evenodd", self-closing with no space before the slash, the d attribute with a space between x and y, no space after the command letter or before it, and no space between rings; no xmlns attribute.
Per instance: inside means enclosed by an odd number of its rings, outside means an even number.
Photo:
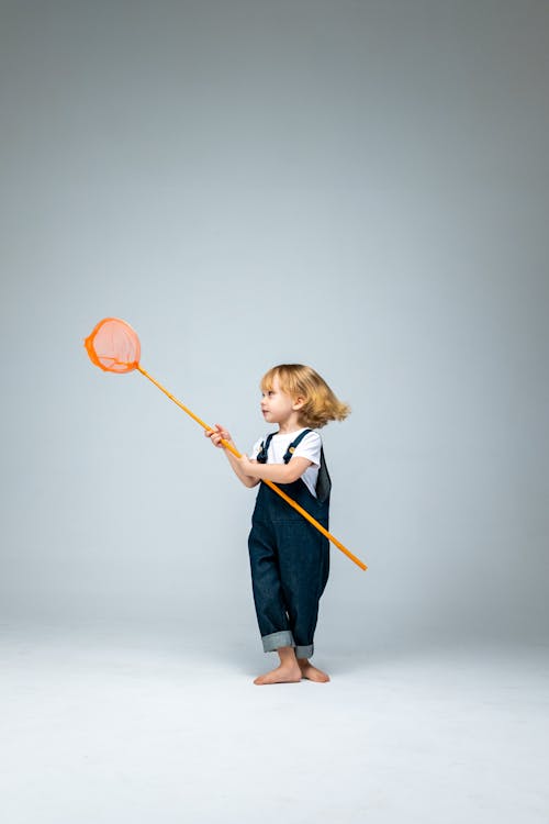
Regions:
<svg viewBox="0 0 549 824"><path fill-rule="evenodd" d="M7 824L548 824L547 648L271 656L3 626ZM328 665L317 660L318 666Z"/></svg>

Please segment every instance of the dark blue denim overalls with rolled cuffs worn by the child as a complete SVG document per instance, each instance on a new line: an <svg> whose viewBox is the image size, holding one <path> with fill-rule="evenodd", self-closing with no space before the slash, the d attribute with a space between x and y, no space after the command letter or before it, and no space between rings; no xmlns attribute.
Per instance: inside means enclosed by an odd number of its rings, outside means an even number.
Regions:
<svg viewBox="0 0 549 824"><path fill-rule="evenodd" d="M288 447L284 464L305 435L305 430ZM271 433L257 456L267 463ZM277 483L280 489L328 528L332 481L321 452L315 498L301 478ZM293 506L261 481L251 516L248 538L251 586L264 650L295 647L298 658L313 655L313 636L318 601L329 572L329 542Z"/></svg>

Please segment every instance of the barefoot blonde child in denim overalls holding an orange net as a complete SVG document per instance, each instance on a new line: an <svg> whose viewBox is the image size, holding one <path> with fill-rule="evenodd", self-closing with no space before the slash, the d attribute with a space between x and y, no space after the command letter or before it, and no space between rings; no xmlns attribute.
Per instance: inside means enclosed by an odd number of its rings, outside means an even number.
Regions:
<svg viewBox="0 0 549 824"><path fill-rule="evenodd" d="M278 424L254 445L251 457L225 455L240 481L256 487L270 480L326 530L330 480L322 439L312 428L343 421L350 412L309 366L274 366L261 380L261 412ZM220 447L231 434L220 424L205 432ZM234 445L234 444L233 444ZM261 483L248 538L251 583L264 650L277 652L280 665L254 683L329 681L310 662L318 601L329 570L329 543L293 506Z"/></svg>

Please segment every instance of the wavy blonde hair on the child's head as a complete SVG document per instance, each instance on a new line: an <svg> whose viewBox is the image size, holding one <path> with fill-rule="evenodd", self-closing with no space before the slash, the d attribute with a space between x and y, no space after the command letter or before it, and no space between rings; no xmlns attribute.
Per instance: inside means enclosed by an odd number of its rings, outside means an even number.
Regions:
<svg viewBox="0 0 549 824"><path fill-rule="evenodd" d="M261 390L272 389L274 377L280 389L292 398L304 398L299 410L300 423L320 430L329 421L344 421L350 413L350 407L338 400L324 378L310 366L302 364L280 364L273 366L261 378Z"/></svg>

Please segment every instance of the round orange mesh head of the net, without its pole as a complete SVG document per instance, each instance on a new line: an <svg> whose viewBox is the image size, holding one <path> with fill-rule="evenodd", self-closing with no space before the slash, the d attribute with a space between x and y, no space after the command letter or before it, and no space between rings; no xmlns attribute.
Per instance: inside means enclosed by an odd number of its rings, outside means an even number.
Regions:
<svg viewBox="0 0 549 824"><path fill-rule="evenodd" d="M104 318L83 342L90 360L107 372L131 372L139 365L137 333L120 318Z"/></svg>

